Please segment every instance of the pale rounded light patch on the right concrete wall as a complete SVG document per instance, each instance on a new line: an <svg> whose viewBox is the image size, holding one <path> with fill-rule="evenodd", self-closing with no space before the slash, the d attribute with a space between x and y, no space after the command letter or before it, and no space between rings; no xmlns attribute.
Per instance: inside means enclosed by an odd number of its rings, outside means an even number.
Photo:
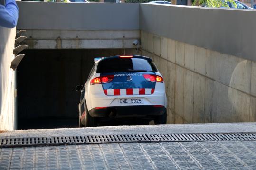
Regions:
<svg viewBox="0 0 256 170"><path fill-rule="evenodd" d="M232 72L229 83L229 87L232 87L228 88L228 99L231 105L229 108L232 109L231 113L233 113L230 116L241 122L256 121L256 99L251 96L252 86L256 86L256 81L251 82L253 81L252 69L252 61L239 62Z"/></svg>

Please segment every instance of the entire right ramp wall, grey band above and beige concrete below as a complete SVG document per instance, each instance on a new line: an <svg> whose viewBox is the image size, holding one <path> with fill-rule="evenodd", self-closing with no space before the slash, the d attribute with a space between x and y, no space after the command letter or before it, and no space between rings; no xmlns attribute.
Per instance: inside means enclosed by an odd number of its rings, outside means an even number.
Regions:
<svg viewBox="0 0 256 170"><path fill-rule="evenodd" d="M256 11L140 5L142 55L166 82L168 123L256 121Z"/></svg>

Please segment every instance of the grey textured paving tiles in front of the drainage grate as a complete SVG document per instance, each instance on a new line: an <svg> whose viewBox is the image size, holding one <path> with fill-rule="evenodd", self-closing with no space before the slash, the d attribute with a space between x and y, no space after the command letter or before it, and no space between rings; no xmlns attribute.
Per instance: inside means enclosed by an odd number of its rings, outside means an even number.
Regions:
<svg viewBox="0 0 256 170"><path fill-rule="evenodd" d="M0 170L256 170L256 141L0 148Z"/></svg>

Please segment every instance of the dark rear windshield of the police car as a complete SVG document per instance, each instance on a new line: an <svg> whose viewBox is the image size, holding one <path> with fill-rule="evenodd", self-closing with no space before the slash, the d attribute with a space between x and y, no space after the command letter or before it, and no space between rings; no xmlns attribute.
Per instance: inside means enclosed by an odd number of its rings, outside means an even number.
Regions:
<svg viewBox="0 0 256 170"><path fill-rule="evenodd" d="M155 64L151 60L143 58L113 58L99 62L97 73L107 72L157 72Z"/></svg>

